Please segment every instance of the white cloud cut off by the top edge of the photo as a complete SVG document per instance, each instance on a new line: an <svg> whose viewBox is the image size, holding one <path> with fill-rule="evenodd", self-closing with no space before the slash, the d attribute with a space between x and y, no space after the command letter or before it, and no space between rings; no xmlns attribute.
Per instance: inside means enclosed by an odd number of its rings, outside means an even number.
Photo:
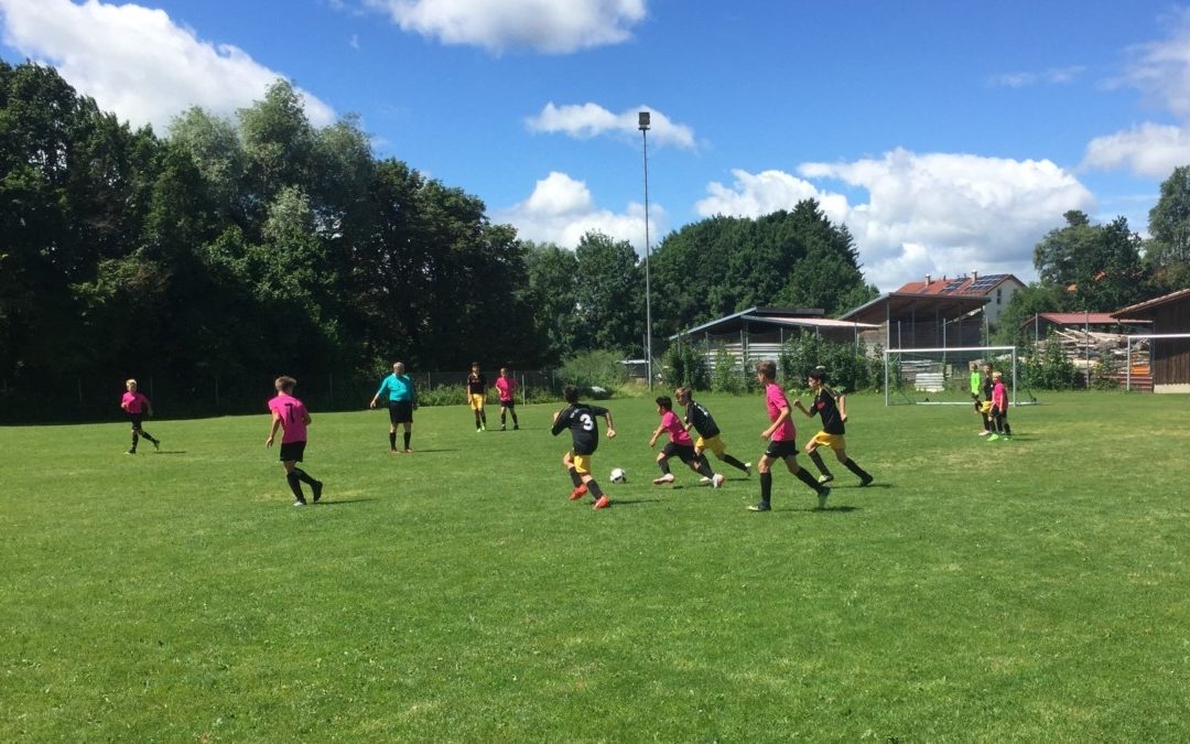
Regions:
<svg viewBox="0 0 1190 744"><path fill-rule="evenodd" d="M527 48L546 54L619 44L645 18L645 0L365 0L405 31L443 44L500 54Z"/></svg>

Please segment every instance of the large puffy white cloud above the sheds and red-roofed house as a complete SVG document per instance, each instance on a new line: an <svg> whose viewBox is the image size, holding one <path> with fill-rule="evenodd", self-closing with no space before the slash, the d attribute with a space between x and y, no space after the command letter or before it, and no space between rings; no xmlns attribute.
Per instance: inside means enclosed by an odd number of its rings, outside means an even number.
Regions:
<svg viewBox="0 0 1190 744"><path fill-rule="evenodd" d="M710 183L697 202L703 217L760 217L819 201L856 237L864 273L881 289L925 274L1010 271L1033 276L1033 246L1069 210L1090 211L1091 193L1050 161L1013 161L897 149L878 160L806 163L798 176L733 171L731 187ZM868 192L864 204L812 180L833 179Z"/></svg>

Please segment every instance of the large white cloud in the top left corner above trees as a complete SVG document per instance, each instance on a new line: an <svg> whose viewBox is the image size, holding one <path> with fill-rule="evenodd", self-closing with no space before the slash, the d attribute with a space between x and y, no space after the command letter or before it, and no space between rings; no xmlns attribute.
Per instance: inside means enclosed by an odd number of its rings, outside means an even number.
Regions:
<svg viewBox="0 0 1190 744"><path fill-rule="evenodd" d="M169 121L192 106L230 115L263 98L280 73L227 44L200 40L164 11L87 0L0 0L4 39L52 64L76 90L133 126ZM322 126L330 106L300 92L306 115Z"/></svg>

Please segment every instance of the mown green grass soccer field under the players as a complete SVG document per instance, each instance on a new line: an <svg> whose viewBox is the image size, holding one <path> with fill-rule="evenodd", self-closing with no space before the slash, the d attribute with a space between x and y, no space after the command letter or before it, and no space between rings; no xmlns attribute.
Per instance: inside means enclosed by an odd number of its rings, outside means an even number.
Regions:
<svg viewBox="0 0 1190 744"><path fill-rule="evenodd" d="M852 396L876 483L815 511L779 471L766 514L729 468L651 486L649 399L609 404L600 512L558 406L421 408L395 457L384 413L314 412L305 508L267 414L136 457L4 427L0 740L1188 740L1190 401L1039 396L1010 443ZM700 400L756 461L763 401Z"/></svg>

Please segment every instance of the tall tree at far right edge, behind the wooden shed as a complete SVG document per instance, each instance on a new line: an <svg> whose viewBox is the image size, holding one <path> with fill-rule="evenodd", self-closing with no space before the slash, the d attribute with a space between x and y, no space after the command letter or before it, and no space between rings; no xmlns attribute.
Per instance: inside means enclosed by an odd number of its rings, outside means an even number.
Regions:
<svg viewBox="0 0 1190 744"><path fill-rule="evenodd" d="M1190 287L1190 165L1173 169L1148 211L1145 265L1160 292Z"/></svg>

